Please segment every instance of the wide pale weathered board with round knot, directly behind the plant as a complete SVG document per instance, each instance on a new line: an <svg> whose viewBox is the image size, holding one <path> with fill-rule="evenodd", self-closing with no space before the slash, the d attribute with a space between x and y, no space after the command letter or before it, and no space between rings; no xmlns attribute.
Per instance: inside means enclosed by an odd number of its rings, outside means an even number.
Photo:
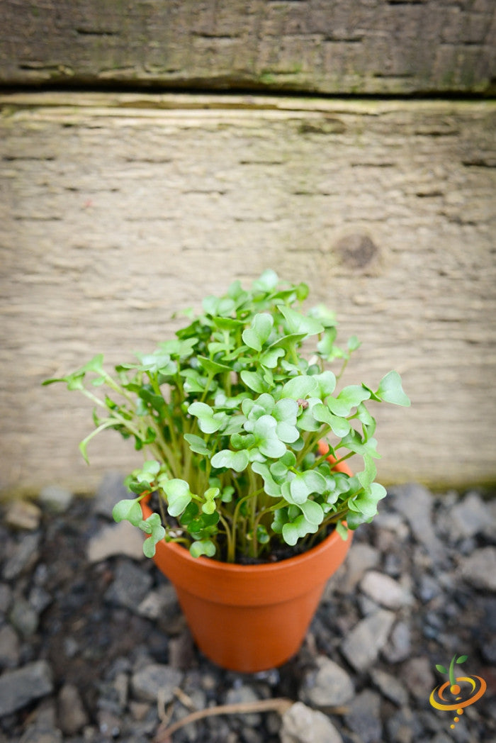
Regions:
<svg viewBox="0 0 496 743"><path fill-rule="evenodd" d="M379 475L494 481L494 103L17 94L0 100L1 487L94 487L139 461L113 432L86 467L84 398L42 388L147 351L233 279L303 279L397 369Z"/></svg>

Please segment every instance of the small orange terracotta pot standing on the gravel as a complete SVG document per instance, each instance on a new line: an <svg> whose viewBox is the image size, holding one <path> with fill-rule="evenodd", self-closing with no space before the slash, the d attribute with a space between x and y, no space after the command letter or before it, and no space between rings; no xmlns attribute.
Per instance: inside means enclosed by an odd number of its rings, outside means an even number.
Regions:
<svg viewBox="0 0 496 743"><path fill-rule="evenodd" d="M336 469L351 474L345 464ZM142 502L143 517L151 514ZM223 668L257 672L280 666L307 633L330 576L350 547L333 531L297 557L264 565L235 565L192 557L159 542L154 562L177 591L200 650Z"/></svg>

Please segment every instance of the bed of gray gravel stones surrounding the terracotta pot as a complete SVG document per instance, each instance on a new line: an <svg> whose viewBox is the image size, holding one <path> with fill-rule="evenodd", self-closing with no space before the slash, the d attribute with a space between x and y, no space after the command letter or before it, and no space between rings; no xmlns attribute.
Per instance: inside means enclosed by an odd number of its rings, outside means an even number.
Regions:
<svg viewBox="0 0 496 743"><path fill-rule="evenodd" d="M55 497L57 496L57 498ZM496 739L495 507L483 493L391 488L327 584L298 655L280 669L219 669L195 647L174 589L94 499L55 486L1 507L0 743L146 743L220 704L293 704L209 716L173 743L489 743ZM235 628L233 628L235 631ZM487 691L434 709L437 664L467 655ZM460 668L460 666L459 666Z"/></svg>

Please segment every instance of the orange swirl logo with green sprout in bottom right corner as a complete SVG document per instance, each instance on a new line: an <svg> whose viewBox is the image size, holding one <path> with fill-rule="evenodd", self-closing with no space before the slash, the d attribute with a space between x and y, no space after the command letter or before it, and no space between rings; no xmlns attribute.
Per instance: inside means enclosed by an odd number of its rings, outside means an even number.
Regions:
<svg viewBox="0 0 496 743"><path fill-rule="evenodd" d="M465 663L467 657L467 655L459 655L457 658L454 655L451 658L449 669L446 669L444 666L436 666L436 669L440 673L446 673L448 675L448 681L432 690L429 697L432 707L435 707L437 710L457 713L453 718L453 723L449 726L451 730L454 729L455 723L460 720L460 715L463 715L464 707L474 704L486 691L486 681L480 678L480 676L455 677L454 666L457 663Z"/></svg>

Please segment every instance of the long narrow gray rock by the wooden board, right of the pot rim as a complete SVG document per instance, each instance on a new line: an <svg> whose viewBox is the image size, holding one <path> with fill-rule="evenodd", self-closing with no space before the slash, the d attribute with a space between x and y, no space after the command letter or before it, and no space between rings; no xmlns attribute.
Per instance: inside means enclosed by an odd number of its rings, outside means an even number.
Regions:
<svg viewBox="0 0 496 743"><path fill-rule="evenodd" d="M433 559L443 555L443 545L432 525L432 493L417 483L400 485L391 490L394 508L408 521L417 542L424 545Z"/></svg>

